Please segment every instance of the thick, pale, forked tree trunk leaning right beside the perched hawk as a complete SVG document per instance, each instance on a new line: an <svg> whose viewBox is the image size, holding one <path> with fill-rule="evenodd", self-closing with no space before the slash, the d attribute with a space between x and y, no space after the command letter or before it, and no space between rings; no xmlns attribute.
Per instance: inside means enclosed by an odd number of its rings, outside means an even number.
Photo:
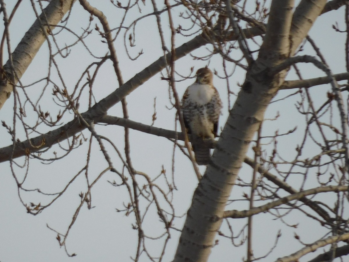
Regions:
<svg viewBox="0 0 349 262"><path fill-rule="evenodd" d="M293 1L287 1L286 7L284 4L284 1L272 2L270 10L275 10L275 17L269 16L266 40L258 59L247 71L245 83L230 111L210 165L194 192L174 262L208 260L250 142L270 100L285 78L285 70L276 75L269 75L268 71L295 52L326 1L301 1L293 16ZM277 10L281 10L280 15Z"/></svg>

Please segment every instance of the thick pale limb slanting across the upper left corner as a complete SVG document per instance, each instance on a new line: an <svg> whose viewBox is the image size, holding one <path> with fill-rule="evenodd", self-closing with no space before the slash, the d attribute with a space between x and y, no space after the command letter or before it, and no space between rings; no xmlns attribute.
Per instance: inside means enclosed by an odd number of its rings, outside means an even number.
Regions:
<svg viewBox="0 0 349 262"><path fill-rule="evenodd" d="M50 31L47 24L55 25L61 21L75 1L54 0L50 2L40 15L40 19L37 19L25 33L12 53L12 61L8 60L3 66L6 78L0 83L0 109L13 91L10 79L15 79L14 84L21 79L40 47L46 41L47 32Z"/></svg>

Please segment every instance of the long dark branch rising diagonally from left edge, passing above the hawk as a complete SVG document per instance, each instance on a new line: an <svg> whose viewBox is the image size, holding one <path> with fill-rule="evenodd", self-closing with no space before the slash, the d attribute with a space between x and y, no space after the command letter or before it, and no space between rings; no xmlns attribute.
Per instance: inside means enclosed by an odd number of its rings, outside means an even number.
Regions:
<svg viewBox="0 0 349 262"><path fill-rule="evenodd" d="M258 27L244 29L243 31L246 38L251 38L253 36L262 34L262 31ZM230 40L236 40L236 38L237 36L234 35L233 32L231 32ZM190 41L176 48L175 59L178 60L186 56L188 53L192 52L193 50L200 48L201 46L206 44L207 44L207 41L205 40L205 38L202 35L198 35L193 39L191 39ZM144 68L142 71L137 73L133 78L128 80L126 83L124 83L114 92L112 92L110 95L106 96L104 99L96 103L88 111L82 113L81 114L82 117L86 119L87 122L92 120L95 123L98 123L99 119L105 115L106 111L109 108L111 108L113 105L120 102L121 99L129 95L131 92L133 92L136 88L141 86L148 79L150 79L155 74L163 70L167 65L166 61L169 61L170 59L171 59L171 53L166 54L166 56L160 57L154 63L150 64L149 66ZM85 129L85 126L81 125L79 121L76 121L76 119L74 119L68 122L67 124L61 126L58 129L55 129L53 131L47 132L45 134L42 134L40 136L30 139L31 143L29 143L29 141L27 140L27 141L16 143L15 148L13 148L12 145L0 148L0 162L10 160L12 152L13 152L13 158L22 157L23 155L28 154L28 152L35 152L35 151L38 151L39 149L41 150L43 148L51 147L52 145L57 144L59 141L67 139L73 136L74 134L81 132L84 129ZM33 147L31 146L31 144L40 145L40 147L39 148Z"/></svg>

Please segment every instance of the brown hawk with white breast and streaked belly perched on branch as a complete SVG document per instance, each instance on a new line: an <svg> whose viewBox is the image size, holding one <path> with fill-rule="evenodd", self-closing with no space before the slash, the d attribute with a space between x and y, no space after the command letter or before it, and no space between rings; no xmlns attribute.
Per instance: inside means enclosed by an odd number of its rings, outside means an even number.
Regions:
<svg viewBox="0 0 349 262"><path fill-rule="evenodd" d="M222 101L213 86L213 73L207 67L196 71L195 83L185 90L181 108L187 132L192 135L195 161L198 165L208 165L210 148L203 140L214 139L217 136Z"/></svg>

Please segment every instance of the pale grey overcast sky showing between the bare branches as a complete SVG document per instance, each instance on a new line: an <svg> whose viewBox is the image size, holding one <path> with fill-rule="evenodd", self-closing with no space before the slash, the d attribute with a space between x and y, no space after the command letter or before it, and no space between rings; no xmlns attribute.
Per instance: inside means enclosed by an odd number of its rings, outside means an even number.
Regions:
<svg viewBox="0 0 349 262"><path fill-rule="evenodd" d="M13 8L14 1L6 1L7 12ZM120 10L113 7L110 1L90 1L91 5L101 9L106 15L107 19L111 24L111 28L115 28L120 22ZM251 1L251 5L253 1ZM142 5L142 4L141 4ZM161 8L162 1L159 3L159 9ZM267 5L268 6L268 5ZM141 6L142 13L153 12L150 1L146 1L146 6ZM176 19L175 26L180 23L183 27L185 21L179 18L180 8L174 8L172 15ZM134 16L130 16L126 19L125 25L129 25L134 17L140 16L136 9L133 11ZM80 6L79 2L76 2L69 21L69 28L76 30L76 32L82 32L81 28L84 28L89 23L89 14L86 13ZM131 19L132 17L132 19ZM339 23L340 27L344 29L343 18L344 8L340 10L330 12L322 15L316 21L314 27L310 31L310 36L315 40L320 50L323 52L327 63L331 67L333 73L345 72L345 61L344 61L344 41L345 34L340 34L332 29L332 24ZM162 16L163 30L166 38L166 43L170 46L169 42L169 28L165 22L167 19L166 15ZM12 50L24 33L28 30L31 24L35 21L35 14L32 10L29 1L23 1L16 15L14 16L13 22L10 25L10 38ZM91 28L95 27L97 19L95 18L92 22ZM101 27L102 28L102 27ZM3 26L1 27L3 32ZM132 78L136 73L141 71L144 67L153 63L160 56L163 51L161 50L161 42L158 36L158 30L156 26L156 20L154 16L150 16L143 20L140 20L135 28L136 42L134 47L129 47L127 50L132 57L135 57L141 50L143 55L136 61L130 60L125 52L125 46L123 44L123 38L119 37L115 43L117 54L120 60L121 72L126 82ZM129 33L128 33L129 34ZM127 37L126 35L126 43ZM64 36L64 37L63 37ZM188 41L192 36L180 37L176 39L176 46ZM58 44L63 47L65 44L70 44L76 40L72 34L64 32L61 36L57 37ZM261 41L260 37L256 37L257 41ZM106 45L101 42L101 37L98 36L97 32L94 31L90 37L86 38L86 44L89 46L91 52L98 57L102 57L107 53ZM253 44L251 44L253 48ZM203 48L195 50L194 56L202 56L211 50L211 46L207 45ZM305 51L301 54L314 55L311 51L309 44L305 45ZM236 58L240 56L237 50ZM5 52L6 53L6 52ZM29 85L38 79L44 78L47 75L48 65L48 47L44 43L42 49L39 51L37 57L30 65L27 72L23 75L21 81L23 85ZM5 61L7 55L5 54ZM60 72L65 79L66 85L70 90L73 90L77 81L79 80L82 72L86 69L88 64L97 61L98 59L93 58L89 52L83 47L82 44L78 44L70 48L70 54L67 58L57 58L59 63ZM176 62L176 70L181 75L189 75L190 68L194 66L194 71L198 68L206 66L212 70L216 69L218 74L223 77L222 73L222 58L220 56L214 56L209 61L196 60L193 56L187 55L186 57ZM314 66L307 64L300 66L304 78L313 78L318 76L324 76L322 72L315 69ZM229 64L229 72L233 71L232 64ZM193 74L192 74L193 76ZM245 78L245 72L240 68L236 68L236 72L229 79L231 90L237 94L239 91L238 84L242 84ZM52 72L52 79L58 81L57 73ZM84 77L86 80L86 77ZM176 80L181 80L179 75L176 75ZM290 72L287 79L297 79L294 72ZM180 97L183 95L185 88L190 85L194 79L187 79L176 83L176 87ZM222 127L225 120L228 117L228 97L227 97L227 83L224 79L220 79L217 76L214 77L214 84L221 95L224 109L223 115L220 119L220 126ZM43 87L45 83L40 82L34 87L26 88L26 92L34 100L38 99L37 88ZM96 79L95 98L96 101L101 100L106 95L110 94L113 90L118 87L117 79L113 73L112 64L107 62L99 71ZM59 112L59 108L55 106L52 100L52 85L47 88L45 92L41 107L45 112L52 110L52 115L55 116ZM326 93L331 90L329 85L318 86L311 89L311 94L314 99L315 106L321 105L323 101L327 99ZM284 90L281 91L275 100L285 97L296 90ZM84 94L87 99L87 94ZM174 130L175 128L175 110L171 108L171 104L168 99L168 82L161 80L161 75L157 74L149 81L144 83L141 87L136 89L131 95L127 97L128 109L130 119L133 121L141 122L144 124L151 124L152 115L154 113L154 98L156 97L156 112L157 120L155 126L164 129ZM235 100L235 96L231 95L231 105ZM263 126L263 134L272 136L276 129L280 130L280 133L287 132L298 126L298 129L304 128L305 121L302 116L297 114L295 104L299 100L299 96L275 102L270 105L266 113L265 118L274 118L278 112L281 115L277 121L267 121ZM83 100L82 100L83 101ZM81 103L81 112L86 111L87 101ZM115 105L108 111L109 115L122 116L120 104ZM32 119L31 119L32 117ZM69 118L70 117L70 118ZM72 115L66 115L65 122L72 119ZM36 118L34 114L28 110L28 121L33 123ZM6 102L4 107L1 109L0 120L6 121L7 124L11 124L13 119L13 94L10 99ZM19 123L18 123L19 126ZM112 141L118 146L119 150L123 151L123 128L119 126L101 126L97 127L97 130L112 139ZM42 132L47 132L47 127L40 129ZM298 132L298 131L297 131ZM296 151L294 150L294 143L292 139L302 133L295 132L288 139L281 140L279 144L279 150L284 154L285 157L295 157ZM86 137L89 137L87 131L83 132ZM0 146L8 146L12 142L10 141L10 135L7 130L1 126L0 128ZM36 135L35 135L36 136ZM173 143L166 138L157 137L150 134L141 133L139 131L130 131L131 136L131 157L133 159L134 167L142 172L147 173L151 177L155 177L161 173L162 166L166 169L166 174L171 179L171 168L172 168L172 151ZM18 137L24 140L23 132L18 128ZM289 146L290 145L290 146ZM63 143L63 146L66 144ZM43 165L39 160L30 161L28 178L24 184L25 188L36 189L39 188L43 192L53 193L58 192L64 188L67 182L72 179L74 175L79 172L81 168L86 164L86 152L88 148L88 142L85 142L80 148L74 150L68 155L68 157L54 161L49 165ZM267 147L268 148L268 147ZM270 148L270 147L269 147ZM96 177L105 167L106 162L103 160L100 150L97 144L94 144L94 151L90 162L90 175ZM120 160L117 154L112 150L111 147L107 147L108 152L112 156L112 161L117 168L120 168ZM311 148L309 149L312 150ZM52 148L45 156L53 157L53 151L62 153L57 146ZM253 154L249 154L253 157ZM191 203L191 196L198 183L196 176L193 172L190 161L180 152L176 150L174 163L174 181L176 183L178 191L174 192L173 205L176 207L176 215L183 216ZM23 165L24 158L16 159L16 162ZM26 173L26 169L14 167L18 177L23 177ZM204 172L204 168L200 167L201 172ZM252 170L249 167L243 167L240 172L240 176L243 176L243 180L250 181ZM132 230L131 223L134 223L134 216L126 216L125 213L116 212L116 209L122 209L123 203L128 203L125 188L113 187L107 181L117 180L111 172L107 172L103 175L102 179L92 189L92 206L95 208L88 210L84 206L74 224L72 230L69 233L67 239L67 250L69 253L76 253L77 256L69 258L64 249L59 247L58 241L55 239L57 233L51 231L47 226L50 226L54 230L65 233L68 225L73 217L73 214L79 206L81 191L86 191L86 179L84 175L81 175L76 181L69 187L65 192L64 196L58 199L54 204L44 210L37 216L32 216L26 212L25 207L22 205L17 191L16 182L12 176L12 172L9 167L9 163L0 164L0 261L1 262L18 262L18 261L131 261L130 256L135 255L135 240L137 238L137 231ZM295 177L294 182L297 184L299 178ZM91 178L92 180L92 178ZM118 181L120 182L120 181ZM317 186L316 184L309 183L306 188L312 188ZM164 183L164 181L159 182ZM299 185L298 185L299 186ZM297 188L297 186L296 186ZM249 189L242 187L234 187L232 199L241 199L243 192L249 192ZM51 196L43 196L32 192L21 191L21 197L25 203L47 203ZM236 204L234 204L236 203ZM229 209L242 210L247 208L247 203L234 202L230 205ZM151 215L145 221L145 231L149 235L156 236L159 232L162 232L162 228L157 226L162 225L158 223L158 218ZM271 255L269 259L265 261L273 261L277 257L284 256L295 252L302 246L294 241L294 232L302 235L302 240L306 243L314 241L314 235L318 235L320 238L324 232L314 231L314 227L310 226L310 223L314 223L310 219L304 219L299 221L298 211L294 211L287 219L289 224L299 223L297 228L290 229L285 227L280 220L271 220L270 214L262 214L258 216L258 219L254 219L254 253L255 256L264 255L273 244L277 232L282 228L283 236L280 239L278 248L275 249L275 254ZM266 223L266 221L269 221ZM272 221L272 223L270 223ZM175 227L181 229L184 223L184 218L178 218L175 220ZM234 233L241 229L241 226L246 223L245 219L233 220L232 227ZM223 228L226 228L226 224L223 223ZM166 251L164 261L170 261L173 259L174 252L177 247L179 233L173 231L171 234L171 240ZM218 236L217 236L218 238ZM234 247L231 245L229 239L219 238L220 243L212 249L212 254L209 261L241 261L242 257L245 256L244 247ZM154 252L154 256L157 255L159 247L161 247L163 240L149 240L147 241L147 247L150 252ZM239 240L237 240L239 241ZM290 245L290 243L292 243ZM304 257L300 261L307 261L314 254ZM148 261L144 255L140 261Z"/></svg>

